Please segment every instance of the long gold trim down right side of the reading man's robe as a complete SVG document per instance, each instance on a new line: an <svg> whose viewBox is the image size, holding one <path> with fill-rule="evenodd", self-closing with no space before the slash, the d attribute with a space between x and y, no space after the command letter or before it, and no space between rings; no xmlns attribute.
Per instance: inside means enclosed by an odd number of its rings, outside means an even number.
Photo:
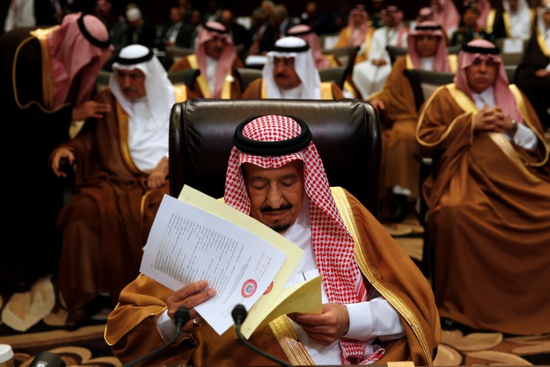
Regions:
<svg viewBox="0 0 550 367"><path fill-rule="evenodd" d="M375 287L375 289L379 291L380 294L382 294L382 296L384 296L384 298L386 298L388 302L390 302L390 304L395 308L399 315L401 315L406 320L407 324L412 328L412 331L415 332L415 335L420 342L422 351L424 353L424 356L426 357L426 361L428 361L428 365L432 366L432 351L430 351L426 334L420 327L420 323L419 320L417 320L416 315L412 313L410 308L403 300L401 300L397 295L392 293L384 285L378 282L378 278L380 278L380 273L378 273L375 267L369 264L369 258L364 256L361 246L359 245L361 243L361 238L357 230L357 223L355 222L355 218L350 215L352 213L352 210L346 194L344 193L344 190L339 187L333 187L331 188L331 192L336 203L336 207L338 208L338 212L340 213L340 217L342 218L342 221L344 221L344 224L349 230L349 233L353 237L353 242L355 243L353 252L355 254L355 259L357 260L358 267L360 268L362 274L366 277L366 280L368 280L371 285Z"/></svg>

